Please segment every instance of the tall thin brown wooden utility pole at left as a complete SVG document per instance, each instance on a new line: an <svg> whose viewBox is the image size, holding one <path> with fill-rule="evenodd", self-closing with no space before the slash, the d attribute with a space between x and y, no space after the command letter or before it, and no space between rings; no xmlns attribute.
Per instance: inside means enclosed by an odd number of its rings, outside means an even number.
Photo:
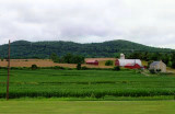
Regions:
<svg viewBox="0 0 175 114"><path fill-rule="evenodd" d="M10 39L9 39L9 56L8 56L7 101L9 100L9 79L10 79Z"/></svg>

